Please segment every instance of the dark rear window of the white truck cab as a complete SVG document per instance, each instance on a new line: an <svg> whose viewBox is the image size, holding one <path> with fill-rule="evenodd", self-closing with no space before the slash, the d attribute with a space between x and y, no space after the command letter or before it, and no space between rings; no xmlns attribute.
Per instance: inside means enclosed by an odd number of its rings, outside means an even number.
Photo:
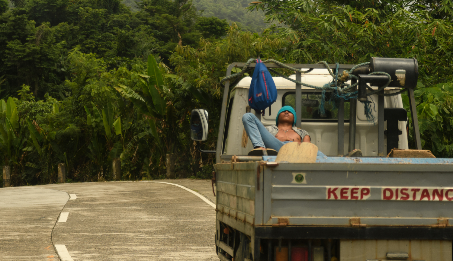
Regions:
<svg viewBox="0 0 453 261"><path fill-rule="evenodd" d="M330 93L326 93L324 108L326 113L323 115L319 111L319 104L322 99L321 92L302 92L302 121L329 121L336 122L338 109L333 109L330 100ZM291 106L296 109L296 93L287 92L283 95L282 107ZM344 119L349 120L349 102L344 103Z"/></svg>

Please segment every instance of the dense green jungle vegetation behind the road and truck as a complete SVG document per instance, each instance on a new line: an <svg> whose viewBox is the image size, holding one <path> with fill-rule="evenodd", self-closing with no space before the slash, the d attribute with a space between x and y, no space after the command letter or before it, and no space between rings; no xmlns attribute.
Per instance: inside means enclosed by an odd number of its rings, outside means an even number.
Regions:
<svg viewBox="0 0 453 261"><path fill-rule="evenodd" d="M452 13L452 0L0 0L0 164L12 185L54 183L59 162L67 182L103 181L119 157L124 180L145 180L174 153L177 177L207 178L190 111L208 109L214 149L226 67L257 56L415 57L423 148L453 157Z"/></svg>

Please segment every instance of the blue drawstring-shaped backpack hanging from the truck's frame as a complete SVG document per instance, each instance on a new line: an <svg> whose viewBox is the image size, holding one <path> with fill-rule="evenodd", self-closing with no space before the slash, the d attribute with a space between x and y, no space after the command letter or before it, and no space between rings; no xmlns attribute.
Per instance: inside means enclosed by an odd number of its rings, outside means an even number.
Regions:
<svg viewBox="0 0 453 261"><path fill-rule="evenodd" d="M274 80L260 58L256 59L255 71L249 89L249 106L256 111L269 107L277 100Z"/></svg>

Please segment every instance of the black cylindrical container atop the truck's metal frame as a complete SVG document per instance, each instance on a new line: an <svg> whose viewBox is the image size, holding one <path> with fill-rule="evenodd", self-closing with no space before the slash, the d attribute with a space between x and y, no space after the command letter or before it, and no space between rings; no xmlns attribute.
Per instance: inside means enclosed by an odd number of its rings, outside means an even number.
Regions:
<svg viewBox="0 0 453 261"><path fill-rule="evenodd" d="M417 86L419 66L417 59L371 57L371 71L384 71L390 74L389 87L414 89Z"/></svg>

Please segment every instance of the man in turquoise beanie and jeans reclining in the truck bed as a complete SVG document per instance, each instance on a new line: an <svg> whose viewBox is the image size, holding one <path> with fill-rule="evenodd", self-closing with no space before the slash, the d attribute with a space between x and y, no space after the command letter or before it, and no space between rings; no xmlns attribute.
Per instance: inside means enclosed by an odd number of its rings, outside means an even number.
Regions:
<svg viewBox="0 0 453 261"><path fill-rule="evenodd" d="M291 106L284 106L279 110L275 119L276 125L264 127L254 114L246 113L242 116L242 123L246 129L254 150L249 156L277 155L280 148L288 142L310 142L310 135L294 127L296 112Z"/></svg>

